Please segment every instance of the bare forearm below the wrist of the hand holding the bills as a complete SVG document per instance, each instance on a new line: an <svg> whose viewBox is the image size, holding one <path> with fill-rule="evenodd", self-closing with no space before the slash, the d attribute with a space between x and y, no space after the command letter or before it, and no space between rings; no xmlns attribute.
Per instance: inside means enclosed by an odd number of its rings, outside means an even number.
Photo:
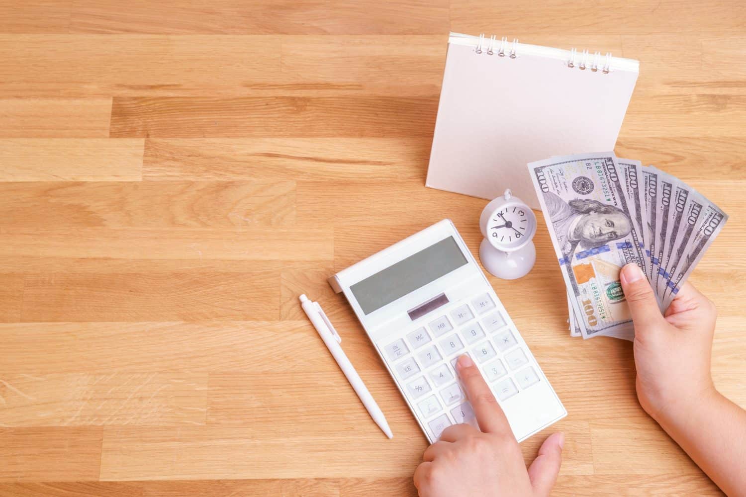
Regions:
<svg viewBox="0 0 746 497"><path fill-rule="evenodd" d="M746 496L746 411L712 390L656 421L728 496Z"/></svg>

